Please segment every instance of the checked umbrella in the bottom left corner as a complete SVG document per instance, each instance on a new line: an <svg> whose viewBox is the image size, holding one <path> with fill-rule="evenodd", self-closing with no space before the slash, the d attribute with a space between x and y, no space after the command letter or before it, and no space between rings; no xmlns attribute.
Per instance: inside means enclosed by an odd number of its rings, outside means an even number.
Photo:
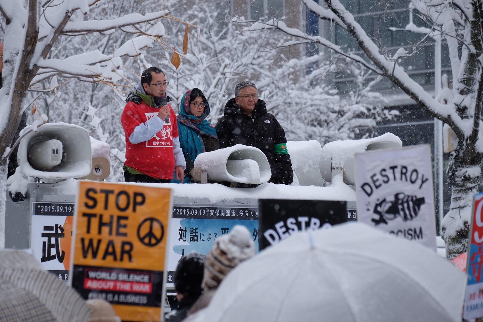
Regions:
<svg viewBox="0 0 483 322"><path fill-rule="evenodd" d="M0 250L0 321L85 322L84 299L22 250Z"/></svg>

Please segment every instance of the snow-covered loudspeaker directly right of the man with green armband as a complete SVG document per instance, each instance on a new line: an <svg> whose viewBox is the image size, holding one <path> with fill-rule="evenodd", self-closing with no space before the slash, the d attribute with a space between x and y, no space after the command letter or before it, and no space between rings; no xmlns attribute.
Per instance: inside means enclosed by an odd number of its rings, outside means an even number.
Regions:
<svg viewBox="0 0 483 322"><path fill-rule="evenodd" d="M322 146L316 140L288 141L288 154L294 170L293 185L318 186L324 185L324 179L320 174L320 155Z"/></svg>

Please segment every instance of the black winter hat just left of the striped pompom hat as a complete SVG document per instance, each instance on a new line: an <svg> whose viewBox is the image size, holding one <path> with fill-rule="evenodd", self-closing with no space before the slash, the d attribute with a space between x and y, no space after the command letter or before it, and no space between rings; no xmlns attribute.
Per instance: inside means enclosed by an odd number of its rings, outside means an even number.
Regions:
<svg viewBox="0 0 483 322"><path fill-rule="evenodd" d="M193 251L178 262L174 272L176 292L183 294L185 297L201 295L205 259L205 255Z"/></svg>

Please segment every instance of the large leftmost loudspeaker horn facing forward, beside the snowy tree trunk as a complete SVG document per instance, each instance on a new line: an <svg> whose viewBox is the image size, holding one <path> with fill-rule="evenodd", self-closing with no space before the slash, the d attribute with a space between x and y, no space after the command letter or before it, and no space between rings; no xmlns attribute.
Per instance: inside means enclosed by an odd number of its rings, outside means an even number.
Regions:
<svg viewBox="0 0 483 322"><path fill-rule="evenodd" d="M43 124L20 140L17 161L25 176L46 179L86 176L91 171L89 134L73 124Z"/></svg>

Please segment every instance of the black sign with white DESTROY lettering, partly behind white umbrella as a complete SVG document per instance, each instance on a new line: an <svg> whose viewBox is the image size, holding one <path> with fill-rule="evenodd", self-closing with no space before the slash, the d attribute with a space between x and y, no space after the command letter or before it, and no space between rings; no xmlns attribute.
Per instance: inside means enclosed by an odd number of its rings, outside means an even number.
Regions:
<svg viewBox="0 0 483 322"><path fill-rule="evenodd" d="M258 205L260 250L295 232L330 228L349 219L345 201L260 199ZM349 220L355 220L355 212Z"/></svg>

